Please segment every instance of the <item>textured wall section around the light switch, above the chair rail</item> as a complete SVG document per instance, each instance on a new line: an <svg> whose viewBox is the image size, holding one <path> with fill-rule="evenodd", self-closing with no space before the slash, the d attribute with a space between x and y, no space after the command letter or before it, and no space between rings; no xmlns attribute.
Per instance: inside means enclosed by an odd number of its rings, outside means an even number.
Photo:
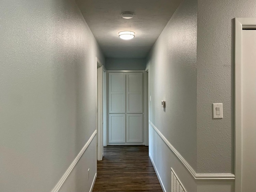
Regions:
<svg viewBox="0 0 256 192"><path fill-rule="evenodd" d="M198 173L234 173L232 19L255 16L255 0L198 0ZM223 119L212 119L212 103L223 103Z"/></svg>

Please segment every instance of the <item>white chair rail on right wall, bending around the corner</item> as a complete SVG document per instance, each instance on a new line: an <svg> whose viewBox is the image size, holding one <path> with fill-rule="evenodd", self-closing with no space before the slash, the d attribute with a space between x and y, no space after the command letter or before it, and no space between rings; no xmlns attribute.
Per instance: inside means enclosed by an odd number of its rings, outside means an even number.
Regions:
<svg viewBox="0 0 256 192"><path fill-rule="evenodd" d="M158 133L158 135L162 138L162 140L165 142L165 144L172 150L172 152L178 157L180 162L187 168L187 170L190 172L190 174L193 176L195 180L235 180L234 174L229 173L210 173L210 174L198 174L195 172L195 170L186 162L186 160L181 156L181 154L170 144L170 142L164 137L164 135L154 126L154 124L151 121L148 121L152 128Z"/></svg>

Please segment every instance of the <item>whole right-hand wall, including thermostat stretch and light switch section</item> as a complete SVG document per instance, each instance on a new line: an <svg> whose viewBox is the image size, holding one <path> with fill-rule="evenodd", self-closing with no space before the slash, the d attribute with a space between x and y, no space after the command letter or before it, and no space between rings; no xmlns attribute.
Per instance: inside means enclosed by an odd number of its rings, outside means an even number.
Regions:
<svg viewBox="0 0 256 192"><path fill-rule="evenodd" d="M255 0L184 0L148 56L150 120L197 174L234 173L232 19L255 15ZM160 100L166 100L165 110ZM212 103L223 103L223 119L212 119ZM158 161L168 153L162 143L150 135L152 160L169 191L169 168L179 168ZM194 191L193 182L186 184L186 173L176 174L186 190ZM234 181L196 185L198 192L234 191Z"/></svg>

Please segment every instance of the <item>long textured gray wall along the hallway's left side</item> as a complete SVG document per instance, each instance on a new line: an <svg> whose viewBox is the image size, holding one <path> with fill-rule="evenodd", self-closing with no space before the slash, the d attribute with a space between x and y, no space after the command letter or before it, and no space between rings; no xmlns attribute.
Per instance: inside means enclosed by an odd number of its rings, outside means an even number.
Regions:
<svg viewBox="0 0 256 192"><path fill-rule="evenodd" d="M0 191L51 191L96 129L104 57L73 0L2 0L0 18ZM90 190L84 173L70 191Z"/></svg>

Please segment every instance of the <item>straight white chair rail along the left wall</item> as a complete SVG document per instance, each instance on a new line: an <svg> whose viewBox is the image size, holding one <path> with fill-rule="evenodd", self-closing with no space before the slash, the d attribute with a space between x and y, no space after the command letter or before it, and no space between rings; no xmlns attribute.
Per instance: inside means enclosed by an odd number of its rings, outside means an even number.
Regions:
<svg viewBox="0 0 256 192"><path fill-rule="evenodd" d="M93 132L92 136L90 136L89 140L86 142L86 144L84 145L82 150L78 153L78 155L76 156L76 158L74 159L72 164L68 167L68 169L66 170L66 172L64 173L62 178L59 180L59 182L56 184L56 186L52 189L52 192L58 192L58 190L60 190L60 188L63 185L63 183L65 182L66 178L68 178L69 174L72 172L72 170L76 166L77 162L79 161L79 159L82 157L82 155L86 151L87 147L92 142L92 140L93 140L94 136L96 135L96 133L97 133L97 130L95 130Z"/></svg>

